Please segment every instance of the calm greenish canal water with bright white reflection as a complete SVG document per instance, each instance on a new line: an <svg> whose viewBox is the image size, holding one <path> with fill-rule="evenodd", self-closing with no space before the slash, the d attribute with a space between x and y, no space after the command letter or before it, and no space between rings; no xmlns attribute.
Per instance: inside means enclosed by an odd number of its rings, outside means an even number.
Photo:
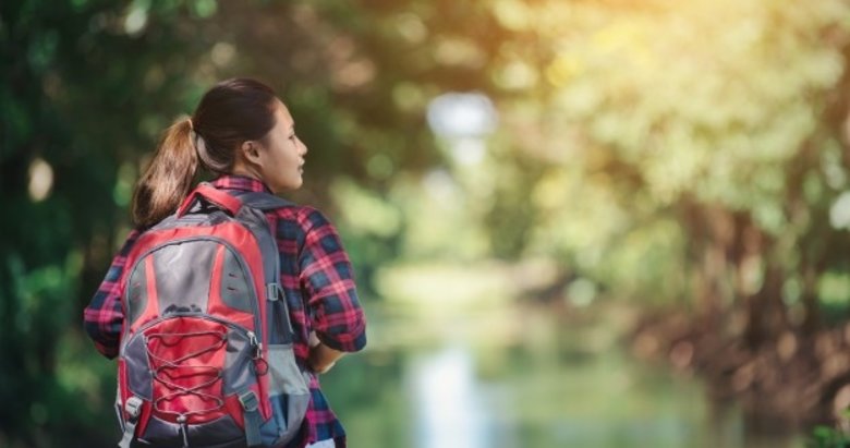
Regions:
<svg viewBox="0 0 850 448"><path fill-rule="evenodd" d="M371 308L369 348L323 378L352 446L805 445L799 434L753 434L697 378L639 362L610 329L616 319L564 325L505 307L446 317Z"/></svg>

